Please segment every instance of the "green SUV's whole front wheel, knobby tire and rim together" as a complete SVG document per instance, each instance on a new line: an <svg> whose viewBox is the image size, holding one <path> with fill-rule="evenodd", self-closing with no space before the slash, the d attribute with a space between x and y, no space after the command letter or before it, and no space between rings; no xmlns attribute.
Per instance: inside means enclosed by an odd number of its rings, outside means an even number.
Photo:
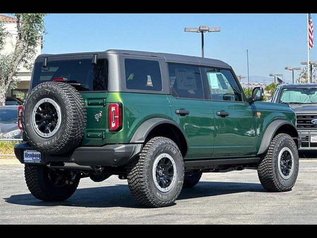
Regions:
<svg viewBox="0 0 317 238"><path fill-rule="evenodd" d="M258 166L262 186L270 192L292 190L299 170L296 144L288 134L276 135Z"/></svg>

